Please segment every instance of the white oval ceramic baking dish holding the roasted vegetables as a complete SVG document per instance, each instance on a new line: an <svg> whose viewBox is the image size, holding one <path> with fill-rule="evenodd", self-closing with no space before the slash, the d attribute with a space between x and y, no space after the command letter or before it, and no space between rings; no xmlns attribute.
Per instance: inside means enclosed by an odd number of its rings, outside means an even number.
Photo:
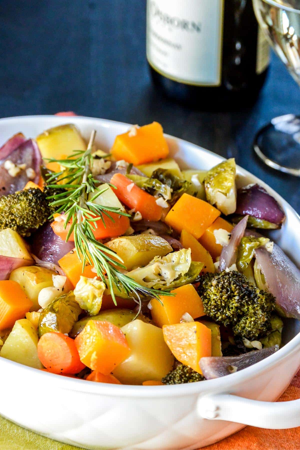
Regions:
<svg viewBox="0 0 300 450"><path fill-rule="evenodd" d="M26 116L0 120L0 143L22 131L72 122L85 139L97 130L109 149L129 125L90 117ZM209 169L223 158L167 136L183 167ZM287 220L272 238L300 266L300 217L277 193L238 167L238 184L258 182L282 205ZM300 368L300 331L288 320L284 346L247 369L224 378L178 386L118 386L47 374L0 358L0 414L46 437L88 449L197 449L237 432L300 426L300 400L272 404Z"/></svg>

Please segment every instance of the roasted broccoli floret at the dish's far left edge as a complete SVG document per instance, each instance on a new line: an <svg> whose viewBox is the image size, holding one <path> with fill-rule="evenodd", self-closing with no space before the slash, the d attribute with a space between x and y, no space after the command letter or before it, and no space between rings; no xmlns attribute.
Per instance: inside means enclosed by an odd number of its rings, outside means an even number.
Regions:
<svg viewBox="0 0 300 450"><path fill-rule="evenodd" d="M40 189L25 189L0 197L0 230L11 228L21 236L30 236L43 225L51 211Z"/></svg>

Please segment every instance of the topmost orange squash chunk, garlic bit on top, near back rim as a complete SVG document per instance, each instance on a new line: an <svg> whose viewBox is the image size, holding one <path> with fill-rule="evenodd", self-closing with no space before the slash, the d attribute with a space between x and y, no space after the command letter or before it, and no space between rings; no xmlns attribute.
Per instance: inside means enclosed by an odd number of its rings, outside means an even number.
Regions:
<svg viewBox="0 0 300 450"><path fill-rule="evenodd" d="M161 124L153 122L134 132L129 130L117 135L111 153L116 159L125 159L136 166L166 158L169 148Z"/></svg>

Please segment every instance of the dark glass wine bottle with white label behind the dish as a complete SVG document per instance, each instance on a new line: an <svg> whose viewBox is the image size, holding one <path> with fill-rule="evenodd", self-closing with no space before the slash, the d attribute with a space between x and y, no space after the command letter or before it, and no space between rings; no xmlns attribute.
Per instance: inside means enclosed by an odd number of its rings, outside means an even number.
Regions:
<svg viewBox="0 0 300 450"><path fill-rule="evenodd" d="M199 108L257 97L269 45L251 0L148 0L147 59L167 95Z"/></svg>

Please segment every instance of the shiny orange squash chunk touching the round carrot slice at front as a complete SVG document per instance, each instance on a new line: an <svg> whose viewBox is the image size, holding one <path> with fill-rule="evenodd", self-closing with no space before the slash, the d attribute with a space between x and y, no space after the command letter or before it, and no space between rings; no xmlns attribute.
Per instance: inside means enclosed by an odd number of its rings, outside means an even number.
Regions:
<svg viewBox="0 0 300 450"><path fill-rule="evenodd" d="M75 338L81 362L108 375L130 353L125 334L110 322L89 320Z"/></svg>

